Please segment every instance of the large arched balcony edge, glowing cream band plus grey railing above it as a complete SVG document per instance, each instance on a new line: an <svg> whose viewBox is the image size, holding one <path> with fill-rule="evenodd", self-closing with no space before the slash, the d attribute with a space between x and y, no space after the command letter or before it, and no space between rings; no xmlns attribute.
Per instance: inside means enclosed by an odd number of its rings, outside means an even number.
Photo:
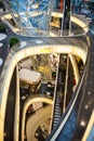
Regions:
<svg viewBox="0 0 94 141"><path fill-rule="evenodd" d="M3 134L4 134L4 119L5 119L5 108L6 108L6 101L8 101L8 93L9 93L9 88L10 88L10 82L11 82L11 77L13 74L13 70L15 68L15 65L17 62L21 60L30 56L32 54L44 54L44 53L69 53L69 54L75 54L80 56L83 60L83 63L85 63L86 54L88 54L88 44L86 40L85 43L82 41L82 37L77 38L40 38L42 40L42 44L38 46L36 41L39 38L36 38L33 40L30 40L30 47L29 43L27 44L26 48L19 48L19 46L15 46L9 53L8 59L5 64L3 65L3 70L1 73L0 77L0 130L1 130L1 136L0 140L3 141ZM84 38L83 38L84 39ZM75 41L79 40L79 43L76 43ZM51 43L50 43L51 42ZM58 46L58 42L61 46ZM81 43L83 42L83 43ZM46 43L46 44L45 44ZM70 46L71 43L71 46ZM76 44L73 44L76 43ZM68 46L69 44L69 46ZM80 47L79 47L79 46ZM84 46L85 44L85 46ZM78 46L78 47L77 47ZM83 55L82 55L83 54ZM4 86L4 87L3 87Z"/></svg>

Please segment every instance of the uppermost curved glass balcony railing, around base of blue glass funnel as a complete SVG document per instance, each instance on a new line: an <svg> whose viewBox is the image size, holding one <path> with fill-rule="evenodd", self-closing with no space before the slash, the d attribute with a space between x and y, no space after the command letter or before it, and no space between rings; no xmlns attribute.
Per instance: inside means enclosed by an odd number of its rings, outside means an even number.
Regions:
<svg viewBox="0 0 94 141"><path fill-rule="evenodd" d="M81 17L81 15L71 15L71 27L70 29L66 30L62 30L61 28L53 29L52 27L49 29L31 29L30 27L19 28L16 25L14 26L14 23L11 21L12 16L10 14L1 16L1 18L5 24L9 25L13 33L24 37L75 37L79 35L84 35L89 31L89 23L85 17Z"/></svg>

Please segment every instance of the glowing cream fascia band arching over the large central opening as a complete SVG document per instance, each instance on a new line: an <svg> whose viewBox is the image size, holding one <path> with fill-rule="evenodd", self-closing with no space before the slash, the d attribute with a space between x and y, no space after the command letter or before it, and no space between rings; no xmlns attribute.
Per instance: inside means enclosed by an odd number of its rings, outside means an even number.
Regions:
<svg viewBox="0 0 94 141"><path fill-rule="evenodd" d="M44 54L44 53L69 53L73 55L78 55L82 59L83 63L85 63L86 54L83 49L75 46L59 46L59 44L49 44L49 46L39 46L39 47L29 47L22 49L17 52L11 51L9 56L9 65L5 68L4 79L1 82L0 87L0 141L3 141L4 136L4 117L5 117L5 108L6 108L6 100L8 100L8 92L9 87L12 78L12 74L14 70L15 65L23 59L35 55L35 54ZM3 87L4 86L4 87Z"/></svg>

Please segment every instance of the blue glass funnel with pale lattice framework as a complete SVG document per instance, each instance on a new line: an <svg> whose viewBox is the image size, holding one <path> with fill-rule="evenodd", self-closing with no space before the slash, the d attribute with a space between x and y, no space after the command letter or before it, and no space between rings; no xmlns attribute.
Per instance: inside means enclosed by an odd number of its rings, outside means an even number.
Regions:
<svg viewBox="0 0 94 141"><path fill-rule="evenodd" d="M18 27L31 30L49 29L53 0L4 0L4 2Z"/></svg>

